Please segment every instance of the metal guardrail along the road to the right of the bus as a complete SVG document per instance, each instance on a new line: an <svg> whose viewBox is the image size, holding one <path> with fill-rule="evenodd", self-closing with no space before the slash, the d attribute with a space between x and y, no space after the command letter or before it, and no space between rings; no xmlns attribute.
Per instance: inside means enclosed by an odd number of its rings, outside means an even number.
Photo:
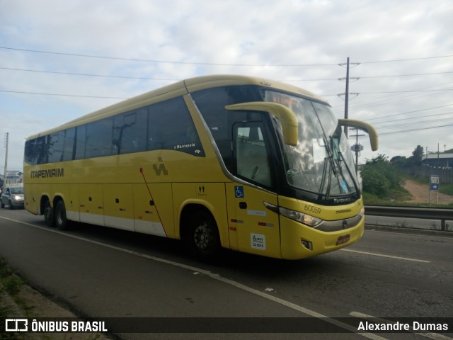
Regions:
<svg viewBox="0 0 453 340"><path fill-rule="evenodd" d="M453 209L365 205L365 215L440 220L440 229L446 231L447 220L453 220Z"/></svg>

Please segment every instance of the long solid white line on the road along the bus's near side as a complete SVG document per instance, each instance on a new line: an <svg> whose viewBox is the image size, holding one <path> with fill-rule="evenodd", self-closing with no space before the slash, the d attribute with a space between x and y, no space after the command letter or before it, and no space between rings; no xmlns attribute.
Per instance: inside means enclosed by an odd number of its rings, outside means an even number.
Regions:
<svg viewBox="0 0 453 340"><path fill-rule="evenodd" d="M352 333L355 333L355 334L358 334L358 335L361 335L361 336L365 336L365 338L372 339L372 340L386 340L386 338L383 338L382 336L378 336L377 334L372 334L372 333L368 333L368 332L357 332L357 329L355 329L355 327L350 326L349 324L345 324L344 322L340 322L340 321L338 321L336 319L333 319L331 317L327 317L326 315L323 315L323 314L321 314L319 312L315 312L314 310L309 310L308 308L296 305L295 303L289 302L287 300L280 299L279 297L275 297L275 296L270 295L268 293L264 293L264 292L262 292L260 290L256 290L255 288L248 287L247 285L243 285L242 283L236 282L234 280L230 280L228 278L222 278L222 276L220 276L219 274L212 273L211 271L206 271L205 269L202 269L202 268L197 268L197 267L194 267L194 266L188 266L187 264L183 264L183 263L179 263L179 262L175 262L175 261L170 261L170 260L166 260L166 259L161 259L160 257L151 256L151 255L139 253L138 251L133 251L133 250L130 250L130 249L120 248L119 246L113 246L111 244L105 244L105 243L94 241L94 240L91 240L91 239L86 239L84 237L79 237L79 236L76 236L76 235L67 234L67 232L60 232L59 230L49 229L48 227L40 227L39 225L33 225L31 223L28 223L28 222L22 222L22 221L18 221L18 220L13 220L13 219L8 218L8 217L0 216L0 218L3 218L4 220L10 220L12 222L20 223L22 225L28 225L30 227L35 227L35 228L38 228L38 229L42 229L42 230L44 230L46 232L54 232L56 234L61 234L62 236L65 236L65 237L71 237L73 239L79 239L81 241L89 242L91 244L96 244L98 246L103 246L105 248L109 248L109 249L113 249L113 250L117 250L117 251L122 251L123 253L131 254L131 255L134 255L134 256L139 256L139 257L142 257L144 259L149 259L149 260L160 262L160 263L166 263L166 264L169 264L171 266L176 266L176 267L179 267L179 268L187 269L188 271L202 273L202 274L204 274L206 276L209 276L210 278L212 278L214 280L218 280L218 281L220 281L222 283L226 283L227 285L232 285L235 288L244 290L244 291L246 291L248 293L252 293L254 295L258 295L260 297L264 297L267 300L276 302L276 303L278 303L280 305L283 305L285 307L288 307L288 308L290 308L292 310L296 310L298 312L302 312L302 313L307 314L307 315L309 315L311 317L316 317L316 318L322 319L324 322L328 322L329 324L333 324L333 325L335 325L337 327L340 327L342 329L346 329L348 331L351 331Z"/></svg>

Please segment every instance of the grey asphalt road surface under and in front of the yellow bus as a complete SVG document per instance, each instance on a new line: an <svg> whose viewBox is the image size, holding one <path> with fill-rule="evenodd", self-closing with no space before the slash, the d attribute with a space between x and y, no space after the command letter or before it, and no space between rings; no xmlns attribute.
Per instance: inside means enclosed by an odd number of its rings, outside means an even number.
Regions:
<svg viewBox="0 0 453 340"><path fill-rule="evenodd" d="M58 232L25 210L1 209L0 255L82 317L164 317L156 319L163 327L190 317L206 331L227 320L234 331L253 331L118 334L121 327L110 327L122 339L426 339L346 331L350 319L364 314L421 322L453 317L453 237L447 236L367 230L357 244L311 259L226 251L218 263L201 263L176 240L93 225ZM306 326L316 332L261 333L275 317L289 327L295 324L288 318L310 317ZM453 339L453 330L434 339Z"/></svg>

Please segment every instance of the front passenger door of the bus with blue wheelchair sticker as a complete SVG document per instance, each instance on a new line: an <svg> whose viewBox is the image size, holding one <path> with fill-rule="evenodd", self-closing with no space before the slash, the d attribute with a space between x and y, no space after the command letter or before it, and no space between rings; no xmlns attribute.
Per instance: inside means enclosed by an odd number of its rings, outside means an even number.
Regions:
<svg viewBox="0 0 453 340"><path fill-rule="evenodd" d="M265 189L273 183L268 143L261 123L236 123L233 128L236 175L253 185L226 183L231 249L281 257L277 194ZM262 188L260 188L262 187Z"/></svg>

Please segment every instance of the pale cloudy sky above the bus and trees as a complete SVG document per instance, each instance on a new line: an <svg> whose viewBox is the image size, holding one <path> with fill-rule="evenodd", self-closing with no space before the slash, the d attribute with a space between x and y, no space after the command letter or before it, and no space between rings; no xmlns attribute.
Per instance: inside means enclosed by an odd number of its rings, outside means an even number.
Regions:
<svg viewBox="0 0 453 340"><path fill-rule="evenodd" d="M344 118L348 57L348 116L379 132L360 163L453 149L452 18L451 0L0 0L0 174L7 132L22 171L28 136L208 74L287 82Z"/></svg>

